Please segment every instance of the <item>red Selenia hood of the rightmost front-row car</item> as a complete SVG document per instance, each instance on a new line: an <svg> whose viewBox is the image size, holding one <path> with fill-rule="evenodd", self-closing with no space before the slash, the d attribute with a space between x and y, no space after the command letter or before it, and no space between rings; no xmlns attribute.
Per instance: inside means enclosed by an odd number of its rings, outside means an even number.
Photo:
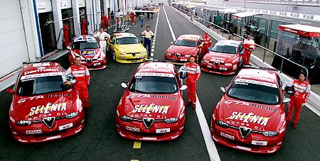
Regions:
<svg viewBox="0 0 320 161"><path fill-rule="evenodd" d="M257 104L224 96L218 103L219 120L256 131L277 131L284 119L279 105Z"/></svg>

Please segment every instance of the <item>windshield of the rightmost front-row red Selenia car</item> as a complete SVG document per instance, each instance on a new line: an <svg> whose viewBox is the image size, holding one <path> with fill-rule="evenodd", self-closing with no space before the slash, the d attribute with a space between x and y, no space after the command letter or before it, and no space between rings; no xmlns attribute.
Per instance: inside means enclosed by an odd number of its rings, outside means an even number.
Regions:
<svg viewBox="0 0 320 161"><path fill-rule="evenodd" d="M280 100L277 88L245 82L233 82L228 90L228 96L258 104L279 104Z"/></svg>

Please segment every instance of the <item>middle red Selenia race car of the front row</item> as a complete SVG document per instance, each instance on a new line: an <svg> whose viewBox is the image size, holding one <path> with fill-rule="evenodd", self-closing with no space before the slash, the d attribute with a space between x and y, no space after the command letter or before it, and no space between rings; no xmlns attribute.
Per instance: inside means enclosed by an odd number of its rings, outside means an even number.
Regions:
<svg viewBox="0 0 320 161"><path fill-rule="evenodd" d="M123 138L174 140L183 133L185 107L181 79L174 65L144 62L128 84L117 106L116 128Z"/></svg>

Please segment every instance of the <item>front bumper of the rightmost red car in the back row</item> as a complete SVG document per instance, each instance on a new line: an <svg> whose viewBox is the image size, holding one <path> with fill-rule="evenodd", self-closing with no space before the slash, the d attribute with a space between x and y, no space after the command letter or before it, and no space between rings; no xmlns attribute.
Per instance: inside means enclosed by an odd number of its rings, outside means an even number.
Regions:
<svg viewBox="0 0 320 161"><path fill-rule="evenodd" d="M200 66L201 70L203 70L203 72L209 72L209 73L214 73L214 74L222 74L222 75L232 75L232 74L236 74L237 73L237 67L227 67L225 65L213 65L213 63L204 63L201 62L201 66Z"/></svg>

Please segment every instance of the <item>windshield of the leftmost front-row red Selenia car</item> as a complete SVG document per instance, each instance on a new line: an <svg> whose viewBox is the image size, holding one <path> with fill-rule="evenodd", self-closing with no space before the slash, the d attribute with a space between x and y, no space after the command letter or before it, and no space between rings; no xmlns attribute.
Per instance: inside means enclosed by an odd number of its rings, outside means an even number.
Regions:
<svg viewBox="0 0 320 161"><path fill-rule="evenodd" d="M65 91L68 87L63 84L61 75L21 79L18 83L19 96L31 96L51 92Z"/></svg>

